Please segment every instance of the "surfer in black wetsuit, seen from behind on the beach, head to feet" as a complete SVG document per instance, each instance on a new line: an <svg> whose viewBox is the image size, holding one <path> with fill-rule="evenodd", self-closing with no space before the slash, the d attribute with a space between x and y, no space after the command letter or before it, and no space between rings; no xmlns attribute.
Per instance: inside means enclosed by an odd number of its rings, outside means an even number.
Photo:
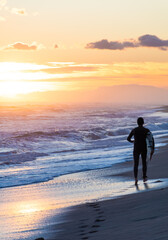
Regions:
<svg viewBox="0 0 168 240"><path fill-rule="evenodd" d="M141 155L142 158L142 170L143 170L143 182L145 183L147 181L147 144L146 144L146 138L147 135L150 133L149 129L145 128L144 125L144 119L142 117L139 117L137 119L138 127L134 128L127 140L131 143L134 143L134 150L133 150L133 156L134 156L134 177L135 177L135 185L138 184L138 165L139 165L139 157ZM134 137L134 140L132 140L132 137ZM153 139L153 147L151 151L150 159L152 158L152 155L154 153L154 139Z"/></svg>

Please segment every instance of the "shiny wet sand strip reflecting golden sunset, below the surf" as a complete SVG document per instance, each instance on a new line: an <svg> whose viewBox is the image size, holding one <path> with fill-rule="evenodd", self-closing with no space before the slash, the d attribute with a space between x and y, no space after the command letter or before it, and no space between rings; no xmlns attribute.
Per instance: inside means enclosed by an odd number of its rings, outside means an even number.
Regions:
<svg viewBox="0 0 168 240"><path fill-rule="evenodd" d="M135 188L130 179L104 177L100 172L76 173L46 183L0 189L1 239L45 237L46 227L50 227L50 231L58 231L56 224L61 221L66 207L161 188L167 184L166 179L150 180L145 184L139 181Z"/></svg>

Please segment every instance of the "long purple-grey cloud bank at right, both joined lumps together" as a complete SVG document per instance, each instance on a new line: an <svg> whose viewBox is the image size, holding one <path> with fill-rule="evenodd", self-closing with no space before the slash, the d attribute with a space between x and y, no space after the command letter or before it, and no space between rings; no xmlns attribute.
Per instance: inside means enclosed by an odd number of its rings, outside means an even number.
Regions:
<svg viewBox="0 0 168 240"><path fill-rule="evenodd" d="M153 47L161 50L167 50L168 40L162 40L155 35L143 35L138 40L128 40L124 42L120 41L108 41L103 39L97 42L91 42L86 45L87 49L108 49L108 50L124 50L126 48L137 48L137 47Z"/></svg>

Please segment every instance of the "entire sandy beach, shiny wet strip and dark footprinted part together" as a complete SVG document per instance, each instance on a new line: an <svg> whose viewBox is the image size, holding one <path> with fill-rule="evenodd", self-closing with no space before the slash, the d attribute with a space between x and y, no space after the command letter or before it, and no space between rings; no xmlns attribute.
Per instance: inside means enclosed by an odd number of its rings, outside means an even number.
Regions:
<svg viewBox="0 0 168 240"><path fill-rule="evenodd" d="M167 239L167 156L167 147L160 148L149 163L148 184L141 180L138 188L132 162L125 162L49 182L0 189L0 237Z"/></svg>

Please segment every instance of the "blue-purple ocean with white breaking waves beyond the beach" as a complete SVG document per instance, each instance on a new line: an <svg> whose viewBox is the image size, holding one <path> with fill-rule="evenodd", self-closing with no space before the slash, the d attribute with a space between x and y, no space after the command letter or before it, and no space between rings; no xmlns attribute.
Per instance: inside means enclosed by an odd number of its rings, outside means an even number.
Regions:
<svg viewBox="0 0 168 240"><path fill-rule="evenodd" d="M165 107L22 105L0 107L0 188L47 182L132 160L126 141L137 117L155 138L168 135Z"/></svg>

